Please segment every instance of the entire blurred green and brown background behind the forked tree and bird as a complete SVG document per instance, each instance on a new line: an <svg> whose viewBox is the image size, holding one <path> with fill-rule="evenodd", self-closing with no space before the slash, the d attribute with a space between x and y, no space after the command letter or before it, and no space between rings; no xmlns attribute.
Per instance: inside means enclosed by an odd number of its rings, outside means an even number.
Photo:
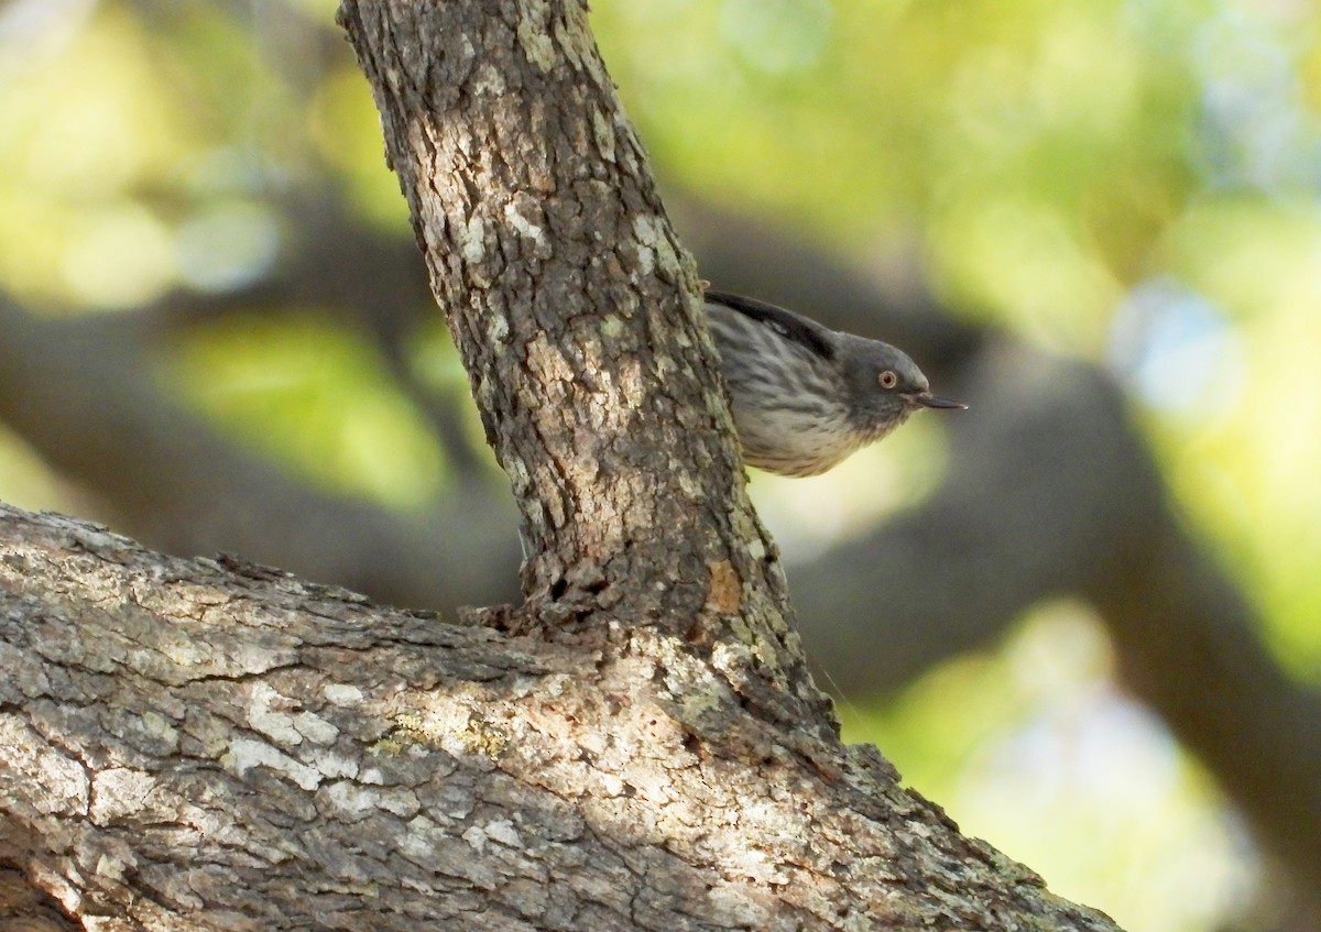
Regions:
<svg viewBox="0 0 1321 932"><path fill-rule="evenodd" d="M0 5L0 498L505 601L514 511L333 8ZM1321 924L1317 13L593 16L703 275L972 404L753 478L847 737L1135 932Z"/></svg>

